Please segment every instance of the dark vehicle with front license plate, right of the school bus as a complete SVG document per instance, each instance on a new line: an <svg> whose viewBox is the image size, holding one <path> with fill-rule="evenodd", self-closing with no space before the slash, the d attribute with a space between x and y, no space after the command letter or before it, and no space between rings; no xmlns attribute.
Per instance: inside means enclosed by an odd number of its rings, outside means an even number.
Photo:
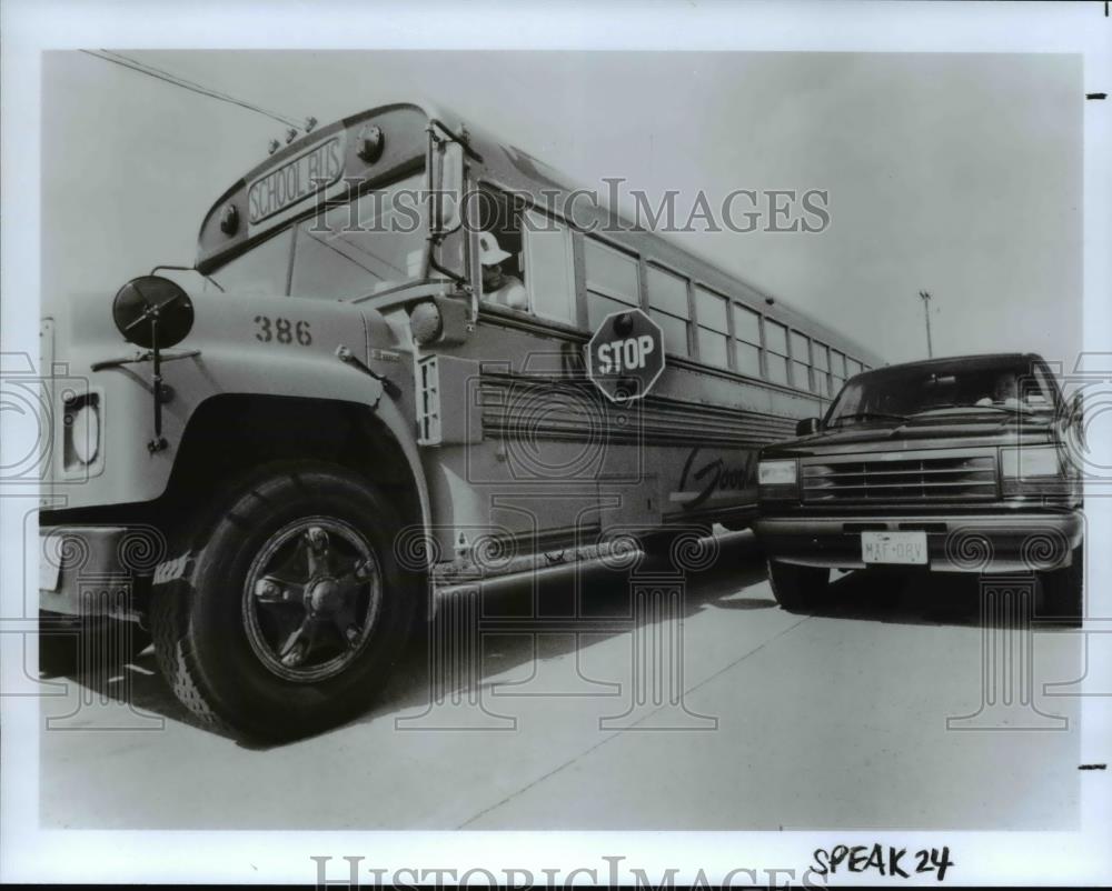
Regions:
<svg viewBox="0 0 1112 891"><path fill-rule="evenodd" d="M831 570L1031 573L1035 618L1082 614L1083 436L1033 353L886 366L762 450L754 531L780 604L833 598Z"/></svg>

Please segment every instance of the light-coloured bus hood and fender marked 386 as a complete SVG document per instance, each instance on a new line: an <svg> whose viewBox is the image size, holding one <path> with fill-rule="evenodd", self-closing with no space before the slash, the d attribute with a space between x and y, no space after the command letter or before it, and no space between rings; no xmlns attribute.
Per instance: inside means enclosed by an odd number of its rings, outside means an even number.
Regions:
<svg viewBox="0 0 1112 891"><path fill-rule="evenodd" d="M44 399L53 419L43 507L157 498L190 418L212 397L292 397L375 408L389 387L401 392L394 401L411 399L407 331L376 310L291 297L188 296L192 328L161 351L165 448L150 448L158 441L152 362L117 330L110 296L75 294L43 319L43 368L50 369ZM338 356L345 351L357 363ZM75 443L70 419L83 406L89 411L81 431L91 441Z"/></svg>

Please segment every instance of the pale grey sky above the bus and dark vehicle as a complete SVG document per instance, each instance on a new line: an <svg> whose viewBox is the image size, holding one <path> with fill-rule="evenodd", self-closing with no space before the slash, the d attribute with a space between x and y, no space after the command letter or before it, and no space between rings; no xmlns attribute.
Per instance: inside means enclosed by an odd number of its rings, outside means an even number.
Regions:
<svg viewBox="0 0 1112 891"><path fill-rule="evenodd" d="M872 347L1081 347L1082 64L1065 54L120 50L321 124L429 97L605 190L823 189L821 233L669 236ZM282 126L79 52L42 71L43 303L190 264ZM686 203L685 203L686 202ZM106 310L107 311L107 310Z"/></svg>

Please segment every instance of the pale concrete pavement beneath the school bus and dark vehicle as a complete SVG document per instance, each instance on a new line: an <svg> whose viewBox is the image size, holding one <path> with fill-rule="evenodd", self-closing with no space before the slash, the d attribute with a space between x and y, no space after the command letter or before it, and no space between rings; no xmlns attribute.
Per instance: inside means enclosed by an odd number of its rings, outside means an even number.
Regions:
<svg viewBox="0 0 1112 891"><path fill-rule="evenodd" d="M787 613L747 534L721 539L682 603L668 569L557 568L535 587L488 585L483 633L467 644L481 647L480 669L458 647L456 661L417 648L376 710L289 745L193 725L149 651L107 680L61 679L66 694L44 700L57 723L42 734L41 823L1076 825L1078 701L1043 690L1082 673L1076 634L983 630L976 584L953 578L850 574L821 614ZM457 599L444 615L474 605ZM1016 657L1031 647L1033 684L1022 660L1000 661L1005 644ZM985 652L997 669L987 683ZM976 717L957 725L977 729L947 729L963 715Z"/></svg>

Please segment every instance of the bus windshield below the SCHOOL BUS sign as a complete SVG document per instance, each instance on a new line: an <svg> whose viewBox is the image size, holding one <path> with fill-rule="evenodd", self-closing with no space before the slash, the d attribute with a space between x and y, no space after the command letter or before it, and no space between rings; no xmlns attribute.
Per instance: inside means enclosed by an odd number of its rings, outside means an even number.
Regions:
<svg viewBox="0 0 1112 891"><path fill-rule="evenodd" d="M210 273L226 291L349 300L421 274L424 174L337 204L257 244ZM292 251L292 263L290 252Z"/></svg>

